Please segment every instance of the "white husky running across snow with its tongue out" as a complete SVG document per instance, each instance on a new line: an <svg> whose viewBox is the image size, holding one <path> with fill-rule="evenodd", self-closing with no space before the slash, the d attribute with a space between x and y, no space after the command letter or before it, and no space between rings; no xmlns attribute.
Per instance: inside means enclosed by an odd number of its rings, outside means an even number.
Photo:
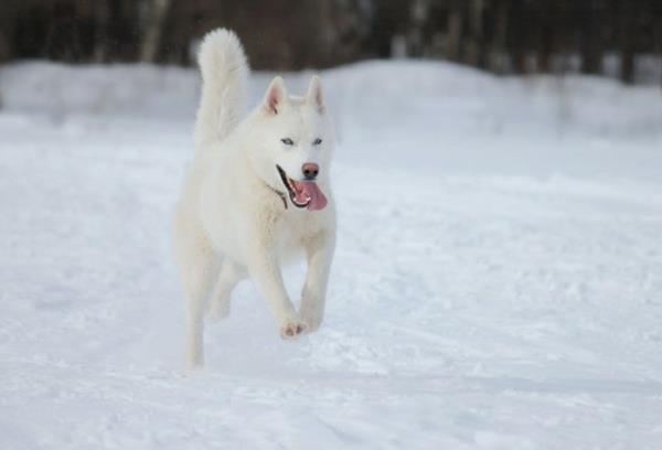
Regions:
<svg viewBox="0 0 662 450"><path fill-rule="evenodd" d="M174 214L174 249L186 304L186 358L203 364L203 314L229 312L234 286L250 276L284 339L317 330L335 243L329 184L333 128L320 79L305 97L288 96L275 77L243 121L246 56L227 30L201 46L202 96L196 152ZM280 265L306 256L297 312Z"/></svg>

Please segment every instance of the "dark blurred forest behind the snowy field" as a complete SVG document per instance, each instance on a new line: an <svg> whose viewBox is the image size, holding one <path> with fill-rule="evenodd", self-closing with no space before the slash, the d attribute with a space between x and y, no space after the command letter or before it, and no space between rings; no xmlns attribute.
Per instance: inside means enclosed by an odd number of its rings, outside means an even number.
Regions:
<svg viewBox="0 0 662 450"><path fill-rule="evenodd" d="M216 26L258 69L425 57L662 83L662 0L1 0L0 62L190 65Z"/></svg>

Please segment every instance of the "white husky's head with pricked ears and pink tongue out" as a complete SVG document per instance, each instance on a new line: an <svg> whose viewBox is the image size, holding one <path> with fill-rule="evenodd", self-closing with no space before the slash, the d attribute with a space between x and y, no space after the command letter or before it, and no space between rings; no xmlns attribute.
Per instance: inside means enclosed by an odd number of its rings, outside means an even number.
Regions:
<svg viewBox="0 0 662 450"><path fill-rule="evenodd" d="M250 124L254 170L273 189L287 193L297 207L327 205L323 190L333 148L333 128L327 115L320 78L313 76L305 97L288 96L275 77Z"/></svg>

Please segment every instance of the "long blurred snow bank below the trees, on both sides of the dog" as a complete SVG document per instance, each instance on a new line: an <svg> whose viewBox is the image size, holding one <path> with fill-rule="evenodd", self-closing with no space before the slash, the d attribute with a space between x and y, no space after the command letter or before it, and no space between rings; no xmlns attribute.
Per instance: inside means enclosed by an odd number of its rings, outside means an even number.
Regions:
<svg viewBox="0 0 662 450"><path fill-rule="evenodd" d="M257 101L270 74L252 79ZM286 76L291 92L303 92L310 73ZM421 115L448 111L466 127L547 129L596 136L640 136L662 130L656 87L624 87L608 78L508 77L441 62L359 63L323 73L332 110L367 127L427 124ZM43 62L0 68L4 110L63 117L72 114L135 115L189 119L199 95L194 69L150 65L67 66ZM369 111L367 114L362 114ZM351 118L351 119L349 119ZM439 121L452 131L457 122ZM465 131L465 130L462 130Z"/></svg>

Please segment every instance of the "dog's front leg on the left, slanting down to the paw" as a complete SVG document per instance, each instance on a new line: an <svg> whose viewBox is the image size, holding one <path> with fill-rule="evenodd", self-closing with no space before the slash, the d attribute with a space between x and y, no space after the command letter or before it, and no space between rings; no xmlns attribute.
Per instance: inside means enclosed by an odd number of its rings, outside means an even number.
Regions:
<svg viewBox="0 0 662 450"><path fill-rule="evenodd" d="M257 285L259 293L280 328L282 339L297 338L308 325L299 319L292 302L287 294L282 275L276 255L271 249L253 248L248 258L248 274Z"/></svg>

